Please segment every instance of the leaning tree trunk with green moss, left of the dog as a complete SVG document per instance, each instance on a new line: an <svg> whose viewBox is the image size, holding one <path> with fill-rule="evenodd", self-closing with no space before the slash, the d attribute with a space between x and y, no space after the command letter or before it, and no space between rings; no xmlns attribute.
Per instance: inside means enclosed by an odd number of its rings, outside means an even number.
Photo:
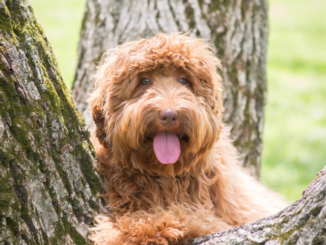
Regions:
<svg viewBox="0 0 326 245"><path fill-rule="evenodd" d="M0 243L85 244L103 191L90 134L29 2L0 16Z"/></svg>

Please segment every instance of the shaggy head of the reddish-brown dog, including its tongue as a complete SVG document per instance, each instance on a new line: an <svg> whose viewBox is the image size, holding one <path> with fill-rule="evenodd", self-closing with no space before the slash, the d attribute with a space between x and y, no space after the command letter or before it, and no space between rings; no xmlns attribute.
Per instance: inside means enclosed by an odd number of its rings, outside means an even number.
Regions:
<svg viewBox="0 0 326 245"><path fill-rule="evenodd" d="M223 106L221 62L209 43L158 34L105 57L89 102L95 136L114 164L180 175L210 152Z"/></svg>

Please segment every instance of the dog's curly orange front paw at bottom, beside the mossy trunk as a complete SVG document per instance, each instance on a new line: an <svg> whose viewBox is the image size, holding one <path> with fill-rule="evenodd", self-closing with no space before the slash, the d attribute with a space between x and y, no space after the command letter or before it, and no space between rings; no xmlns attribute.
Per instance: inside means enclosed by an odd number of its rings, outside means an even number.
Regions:
<svg viewBox="0 0 326 245"><path fill-rule="evenodd" d="M182 244L186 233L186 225L180 220L169 220L167 216L142 212L125 215L110 222L106 216L96 218L97 225L92 228L90 238L96 245L168 245ZM171 218L171 215L169 215ZM180 242L179 242L180 241Z"/></svg>

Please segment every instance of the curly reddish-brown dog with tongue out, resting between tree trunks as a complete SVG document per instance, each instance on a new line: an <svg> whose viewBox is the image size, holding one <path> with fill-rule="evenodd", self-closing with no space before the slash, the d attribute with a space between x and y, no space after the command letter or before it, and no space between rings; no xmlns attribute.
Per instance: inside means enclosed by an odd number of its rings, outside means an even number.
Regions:
<svg viewBox="0 0 326 245"><path fill-rule="evenodd" d="M241 167L207 41L158 34L105 56L90 105L110 215L95 244L189 244L285 206Z"/></svg>

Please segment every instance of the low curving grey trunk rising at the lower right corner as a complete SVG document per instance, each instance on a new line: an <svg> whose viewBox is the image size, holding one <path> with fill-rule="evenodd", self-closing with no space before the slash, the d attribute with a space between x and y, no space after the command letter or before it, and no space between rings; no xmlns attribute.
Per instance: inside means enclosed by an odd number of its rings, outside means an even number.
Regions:
<svg viewBox="0 0 326 245"><path fill-rule="evenodd" d="M192 245L326 244L326 166L301 199L276 215L226 232L196 238Z"/></svg>

